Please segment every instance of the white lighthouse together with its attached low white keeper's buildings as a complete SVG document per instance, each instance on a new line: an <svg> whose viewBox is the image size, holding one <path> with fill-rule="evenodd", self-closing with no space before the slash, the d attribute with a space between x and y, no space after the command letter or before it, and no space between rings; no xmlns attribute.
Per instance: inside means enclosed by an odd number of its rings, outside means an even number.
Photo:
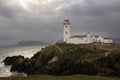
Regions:
<svg viewBox="0 0 120 80"><path fill-rule="evenodd" d="M113 43L112 39L103 38L98 35L75 35L70 36L70 21L69 19L64 20L64 42L71 44L89 44L89 43Z"/></svg>

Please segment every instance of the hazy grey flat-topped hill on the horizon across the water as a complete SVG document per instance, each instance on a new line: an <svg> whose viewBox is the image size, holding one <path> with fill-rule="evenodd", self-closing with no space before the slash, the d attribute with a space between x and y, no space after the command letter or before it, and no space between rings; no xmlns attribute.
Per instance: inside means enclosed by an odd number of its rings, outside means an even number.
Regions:
<svg viewBox="0 0 120 80"><path fill-rule="evenodd" d="M33 45L45 45L46 42L41 41L19 41L17 43L18 46L33 46Z"/></svg>

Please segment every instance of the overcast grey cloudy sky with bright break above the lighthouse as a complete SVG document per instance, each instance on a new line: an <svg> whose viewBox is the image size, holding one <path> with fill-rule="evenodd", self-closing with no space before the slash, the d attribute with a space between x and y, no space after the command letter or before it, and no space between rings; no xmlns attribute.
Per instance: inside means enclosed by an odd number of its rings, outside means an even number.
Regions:
<svg viewBox="0 0 120 80"><path fill-rule="evenodd" d="M0 45L61 40L65 18L71 35L120 38L120 0L0 0Z"/></svg>

